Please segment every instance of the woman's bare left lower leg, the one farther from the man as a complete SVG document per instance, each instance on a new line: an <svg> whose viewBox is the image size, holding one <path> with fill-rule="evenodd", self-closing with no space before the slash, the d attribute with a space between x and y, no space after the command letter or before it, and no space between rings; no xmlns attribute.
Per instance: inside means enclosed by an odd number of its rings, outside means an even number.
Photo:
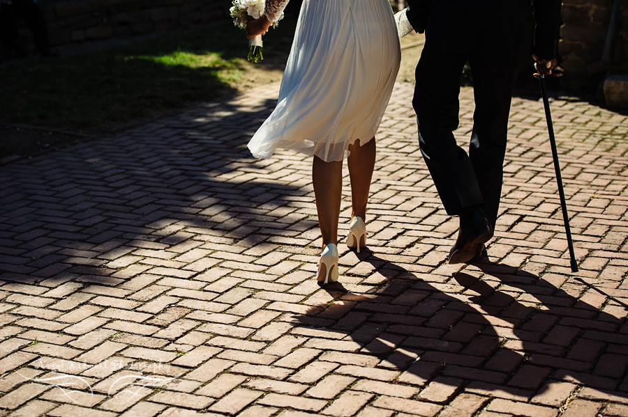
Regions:
<svg viewBox="0 0 628 417"><path fill-rule="evenodd" d="M338 217L343 191L343 162L324 162L314 157L312 167L316 211L322 235L322 247L338 244Z"/></svg>

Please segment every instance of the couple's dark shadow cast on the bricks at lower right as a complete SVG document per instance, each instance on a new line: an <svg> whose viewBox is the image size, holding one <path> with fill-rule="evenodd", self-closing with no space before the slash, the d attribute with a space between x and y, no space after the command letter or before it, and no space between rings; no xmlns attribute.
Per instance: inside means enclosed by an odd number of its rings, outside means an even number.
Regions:
<svg viewBox="0 0 628 417"><path fill-rule="evenodd" d="M372 294L350 294L340 282L328 285L324 290L334 299L329 307L293 317L304 329L336 333L322 337L337 339L337 345L308 342L347 352L323 354L322 359L343 365L334 372L417 386L432 381L430 386L440 387L426 388L419 399L439 404L461 391L550 406L575 392L588 400L628 402L628 379L621 379L628 335L611 336L625 329L623 320L556 288L564 278L541 279L485 260L474 264L483 273L479 276L453 275L470 296L463 298L375 253L355 255L388 272L384 285ZM615 306L626 308L620 300ZM617 345L604 349L606 343ZM359 368L367 360L362 355L380 359L380 370ZM621 392L602 392L614 389Z"/></svg>

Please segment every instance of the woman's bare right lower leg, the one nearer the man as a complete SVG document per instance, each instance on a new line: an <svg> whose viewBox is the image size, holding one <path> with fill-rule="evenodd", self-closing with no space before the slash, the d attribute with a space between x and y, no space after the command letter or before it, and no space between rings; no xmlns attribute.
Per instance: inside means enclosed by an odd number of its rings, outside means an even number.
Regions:
<svg viewBox="0 0 628 417"><path fill-rule="evenodd" d="M375 168L375 138L360 146L355 141L349 146L349 179L351 180L351 218L358 216L366 221L366 203Z"/></svg>

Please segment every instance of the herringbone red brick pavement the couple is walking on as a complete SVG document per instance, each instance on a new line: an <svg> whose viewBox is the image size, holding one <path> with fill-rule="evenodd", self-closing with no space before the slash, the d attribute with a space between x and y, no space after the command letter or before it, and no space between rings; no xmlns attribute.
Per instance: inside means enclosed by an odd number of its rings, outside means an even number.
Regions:
<svg viewBox="0 0 628 417"><path fill-rule="evenodd" d="M580 272L524 98L491 262L447 265L398 84L369 251L321 289L311 160L246 149L277 91L0 168L0 416L628 416L626 116L553 102Z"/></svg>

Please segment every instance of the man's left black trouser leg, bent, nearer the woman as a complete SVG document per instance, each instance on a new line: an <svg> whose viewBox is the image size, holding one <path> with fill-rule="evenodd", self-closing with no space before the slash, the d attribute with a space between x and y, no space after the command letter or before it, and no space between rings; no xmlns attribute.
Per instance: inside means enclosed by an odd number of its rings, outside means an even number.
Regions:
<svg viewBox="0 0 628 417"><path fill-rule="evenodd" d="M447 214L483 203L471 159L453 133L458 128L460 76L466 61L465 54L424 49L412 100L421 153Z"/></svg>

